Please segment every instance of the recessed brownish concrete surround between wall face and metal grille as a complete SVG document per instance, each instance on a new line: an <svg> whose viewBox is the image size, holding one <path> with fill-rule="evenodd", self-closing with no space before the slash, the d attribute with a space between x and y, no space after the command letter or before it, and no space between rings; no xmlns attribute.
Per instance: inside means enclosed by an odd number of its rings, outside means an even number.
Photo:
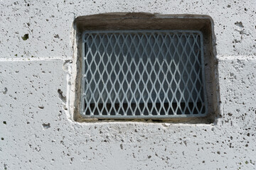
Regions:
<svg viewBox="0 0 256 170"><path fill-rule="evenodd" d="M214 23L210 16L197 14L159 13L98 13L78 16L73 21L72 72L68 80L67 110L75 122L97 121L154 121L168 123L213 123L220 118L220 88ZM115 119L83 118L80 114L80 85L82 72L82 33L85 30L200 30L203 33L203 57L206 74L208 115L197 118Z"/></svg>

